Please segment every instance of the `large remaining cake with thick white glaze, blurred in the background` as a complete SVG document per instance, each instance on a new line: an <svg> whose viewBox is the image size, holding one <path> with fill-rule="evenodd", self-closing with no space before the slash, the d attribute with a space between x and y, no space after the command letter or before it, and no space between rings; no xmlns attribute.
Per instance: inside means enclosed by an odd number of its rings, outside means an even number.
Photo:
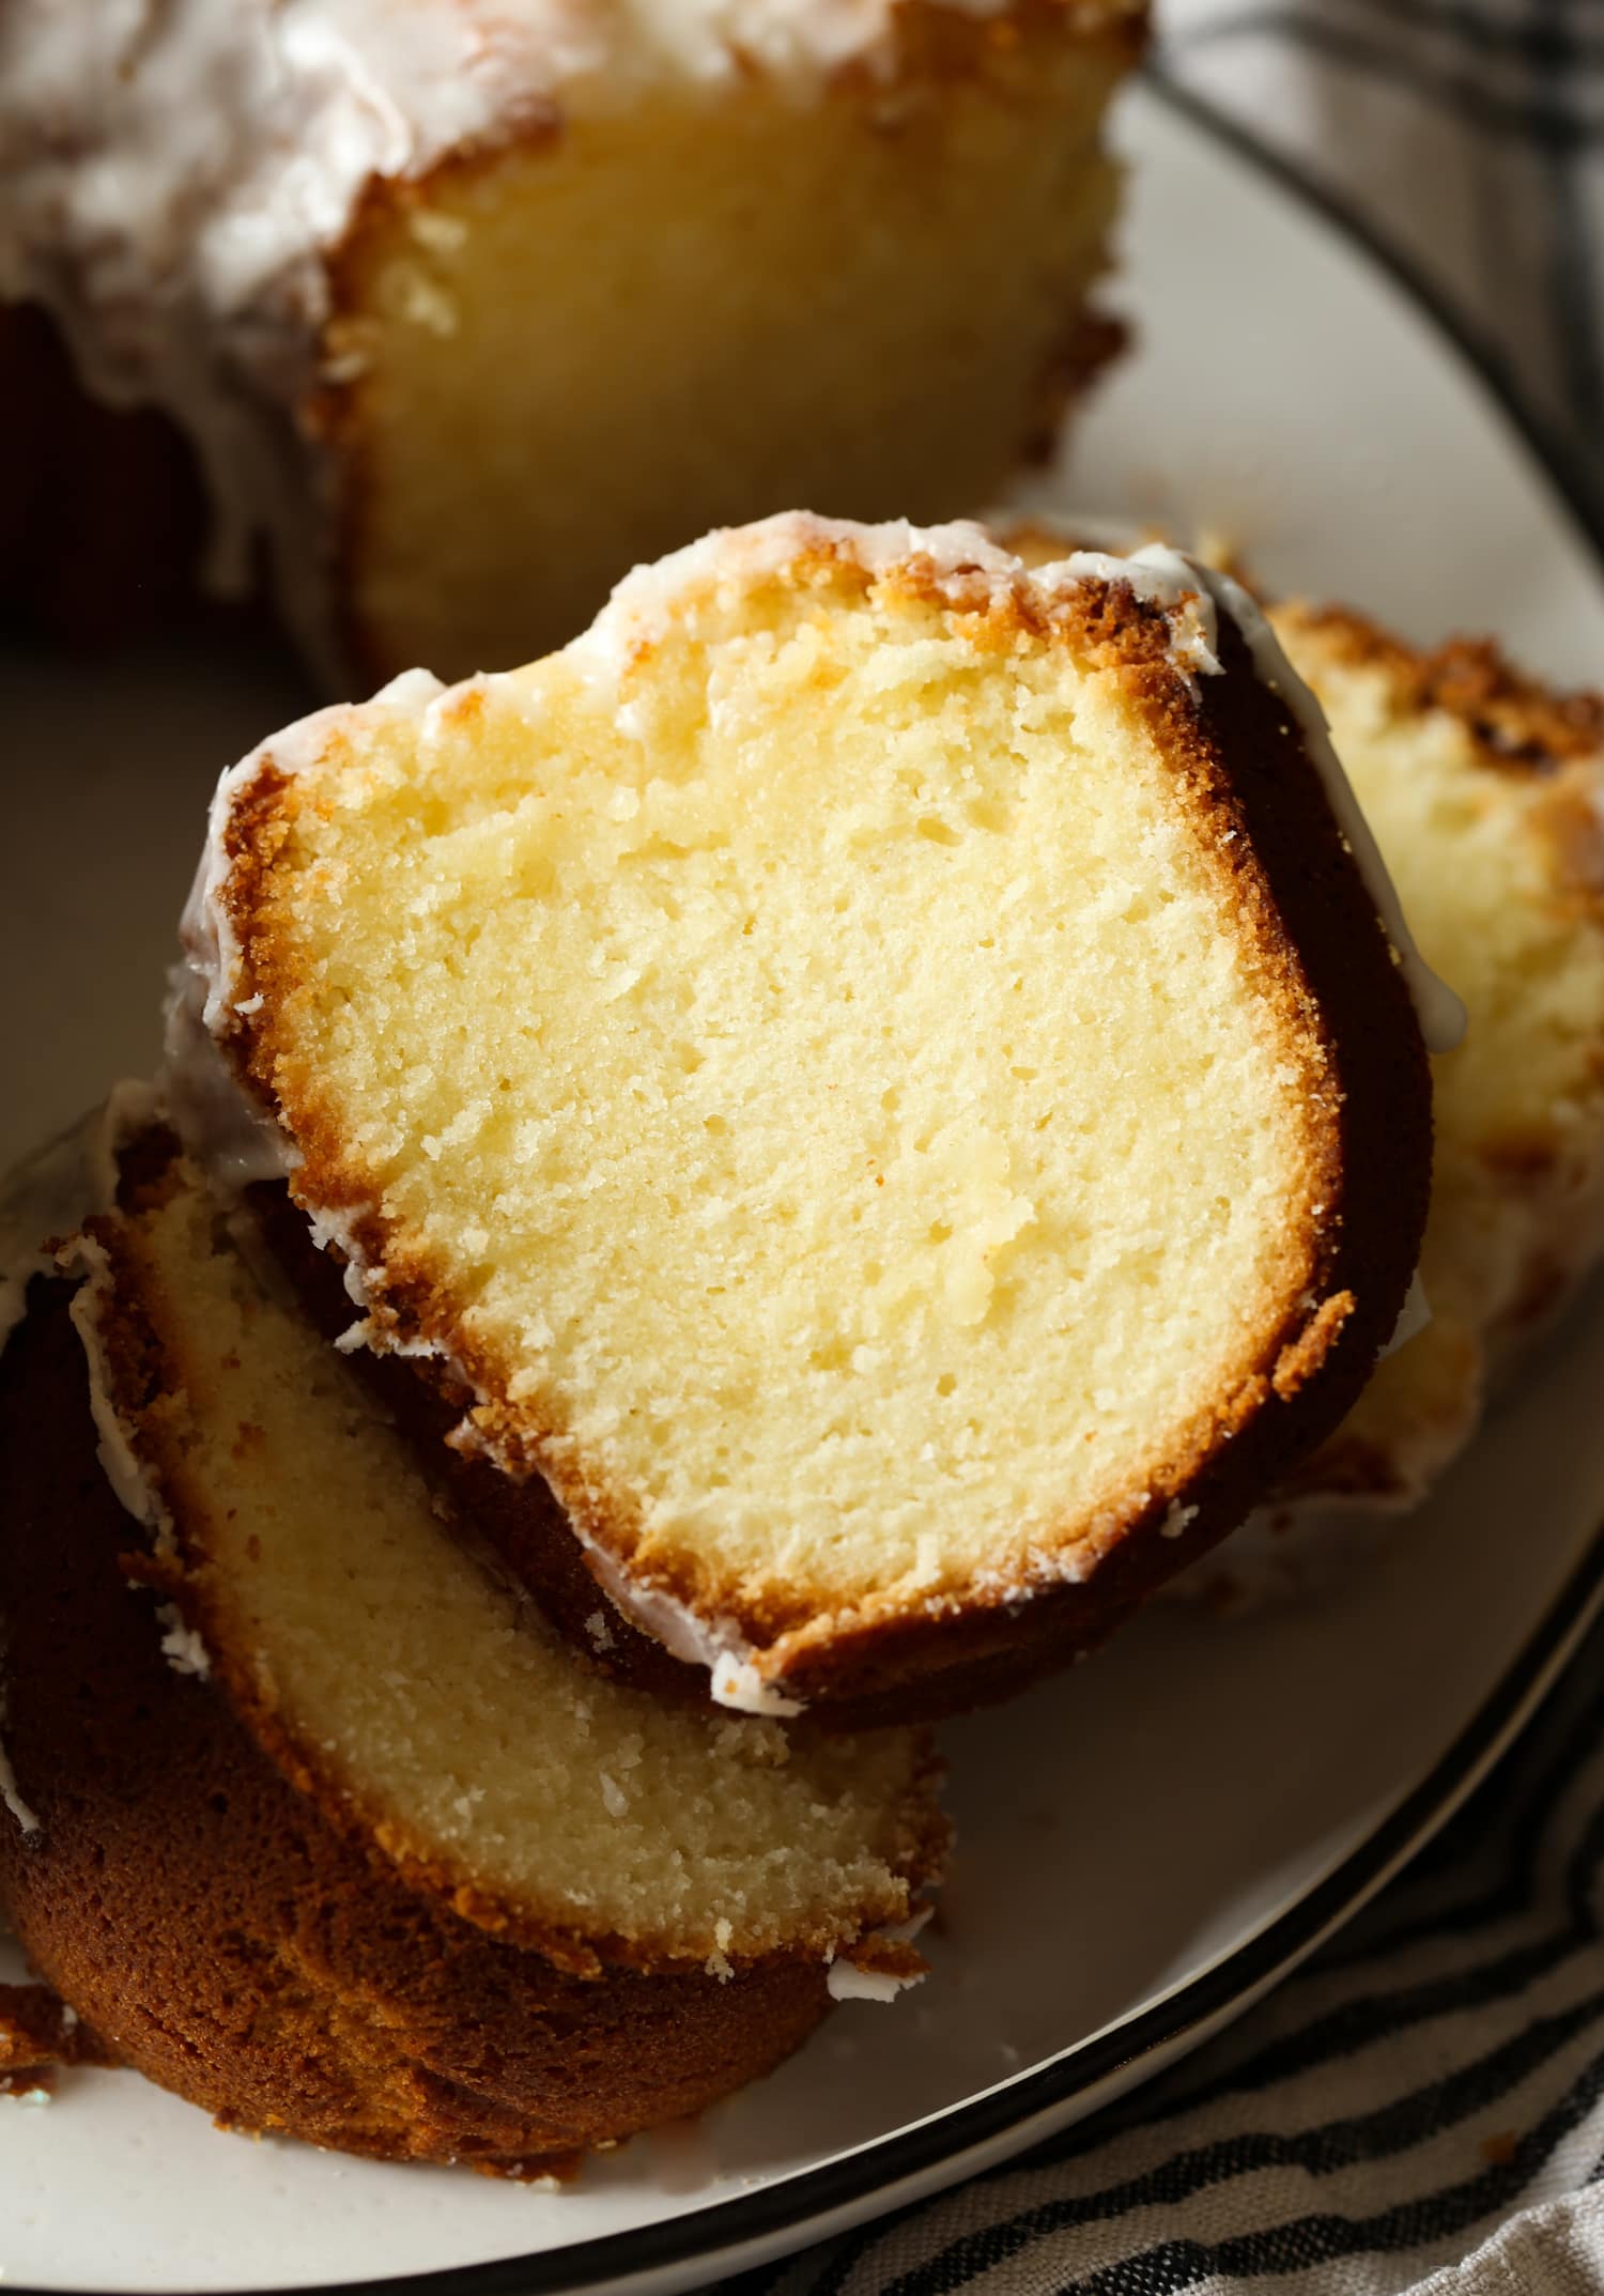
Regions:
<svg viewBox="0 0 1604 2296"><path fill-rule="evenodd" d="M50 326L340 693L776 503L948 517L1115 340L1140 46L1143 0L9 0L0 583L103 627L195 546Z"/></svg>

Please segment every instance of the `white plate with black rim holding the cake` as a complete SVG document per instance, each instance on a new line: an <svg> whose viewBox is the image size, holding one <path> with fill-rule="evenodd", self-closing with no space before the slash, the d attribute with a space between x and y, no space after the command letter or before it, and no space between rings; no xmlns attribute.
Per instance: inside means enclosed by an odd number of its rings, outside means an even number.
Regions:
<svg viewBox="0 0 1604 2296"><path fill-rule="evenodd" d="M1599 563L1418 305L1152 92L1122 133L1140 349L1062 498L1212 523L1276 583L1595 673ZM301 705L294 673L246 654L9 664L0 1159L149 1070L202 799ZM7 2287L702 2287L1090 2112L1345 1919L1526 1717L1599 1603L1602 1382L1595 1293L1384 1568L1276 1619L1152 1612L950 1729L961 1846L932 1979L842 2007L695 2131L548 2195L213 2135L131 2076L80 2073L48 2110L0 2105Z"/></svg>

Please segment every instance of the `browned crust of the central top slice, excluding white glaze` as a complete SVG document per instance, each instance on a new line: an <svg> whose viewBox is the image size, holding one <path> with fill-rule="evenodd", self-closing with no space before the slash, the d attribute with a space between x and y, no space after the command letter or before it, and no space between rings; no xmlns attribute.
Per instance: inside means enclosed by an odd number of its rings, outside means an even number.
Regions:
<svg viewBox="0 0 1604 2296"><path fill-rule="evenodd" d="M950 611L980 650L1007 657L1021 643L1067 647L1122 682L1173 762L1177 806L1225 879L1244 967L1280 1017L1308 1111L1306 1212L1285 1235L1285 1309L1239 1382L1191 1426L1175 1428L1163 1456L1140 1463L1122 1502L1097 1522L1062 1527L1058 1545L1074 1577L1042 1573L1035 1584L945 1593L916 1612L870 1598L838 1619L822 1614L822 1598L805 1587L750 1593L723 1582L702 1557L652 1559L652 1591L702 1619L737 1621L785 1692L858 1727L975 1704L1095 1646L1340 1421L1391 1334L1416 1265L1430 1178L1430 1077L1407 990L1324 785L1283 703L1253 675L1235 625L1221 636L1223 675L1193 682L1175 661L1163 611L1127 583L1088 581L1051 595L1028 579L998 583L980 567L936 572L918 556L877 576L835 542L803 551L778 579L847 595L881 585ZM296 1201L353 1221L353 1249L376 1274L379 1327L436 1348L470 1382L480 1398L468 1414L475 1440L528 1481L551 1472L553 1430L530 1405L512 1410L500 1401L516 1366L464 1329L447 1272L379 1212L358 1210L372 1208L381 1189L351 1159L337 1111L280 1024L296 955L273 925L275 861L307 801L317 799L268 758L239 792L225 831L229 875L220 900L241 951L234 1006L250 1008L232 1024L232 1049L250 1084L285 1109L303 1155L291 1180ZM438 1364L420 1368L438 1394ZM461 1403L450 1375L443 1391ZM429 1414L408 1417L415 1426ZM555 1490L581 1536L629 1570L638 1543L631 1497L590 1479ZM507 1506L480 1513L461 1488L459 1502L574 1632L576 1580L569 1568L567 1584L555 1584L562 1573L551 1557L562 1518L551 1495L535 1490L516 1531ZM1051 1552L1051 1543L1044 1548ZM622 1671L640 1665L633 1637L620 1637L617 1658L594 1646L592 1655Z"/></svg>

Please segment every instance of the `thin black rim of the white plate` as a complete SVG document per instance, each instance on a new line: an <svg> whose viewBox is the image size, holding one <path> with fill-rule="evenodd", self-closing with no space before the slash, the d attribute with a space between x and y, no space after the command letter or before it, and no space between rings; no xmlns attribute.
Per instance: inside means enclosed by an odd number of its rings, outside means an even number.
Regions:
<svg viewBox="0 0 1604 2296"><path fill-rule="evenodd" d="M1223 145L1248 170L1317 216L1329 232L1356 248L1416 310L1453 360L1480 390L1526 450L1528 475L1549 498L1593 560L1604 590L1604 498L1581 452L1515 383L1498 354L1439 294L1432 280L1336 191L1306 177L1290 158L1239 126L1207 96L1179 85L1161 62L1147 62L1136 85L1179 115L1207 140ZM1049 2062L996 2082L980 2096L943 2105L881 2138L815 2167L778 2177L757 2193L606 2232L560 2248L438 2266L425 2273L363 2280L298 2282L294 2287L227 2287L213 2296L581 2296L581 2291L686 2287L688 2266L709 2264L704 2285L778 2259L810 2236L870 2223L895 2206L927 2197L987 2158L1010 2158L1076 2117L1095 2089L1136 2087L1166 2062L1184 2055L1248 2009L1356 1915L1482 1784L1531 1722L1565 1671L1588 1628L1604 1612L1604 1522L1547 1605L1515 1660L1503 1669L1464 1729L1388 1814L1251 1938L1230 1947L1179 1986L1143 2009L1088 2034ZM1095 2108L1092 2108L1095 2110ZM1010 2142L1017 2138L1017 2144ZM881 2195L881 2206L870 2206ZM11 2296L108 2296L87 2282L28 2287L7 2282Z"/></svg>

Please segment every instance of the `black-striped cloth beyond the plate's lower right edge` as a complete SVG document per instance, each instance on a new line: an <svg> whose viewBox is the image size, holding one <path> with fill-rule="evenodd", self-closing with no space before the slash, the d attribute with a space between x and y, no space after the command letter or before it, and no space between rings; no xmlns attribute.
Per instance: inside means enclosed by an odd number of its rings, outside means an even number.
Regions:
<svg viewBox="0 0 1604 2296"><path fill-rule="evenodd" d="M1173 2073L723 2296L1604 2291L1604 1628L1453 1825Z"/></svg>

